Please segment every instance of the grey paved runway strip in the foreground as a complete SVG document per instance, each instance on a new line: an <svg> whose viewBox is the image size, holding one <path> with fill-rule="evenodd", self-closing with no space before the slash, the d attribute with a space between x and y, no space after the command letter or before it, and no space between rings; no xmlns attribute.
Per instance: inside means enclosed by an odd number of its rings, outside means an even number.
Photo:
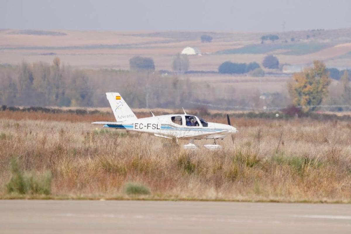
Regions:
<svg viewBox="0 0 351 234"><path fill-rule="evenodd" d="M0 233L351 233L351 205L0 200Z"/></svg>

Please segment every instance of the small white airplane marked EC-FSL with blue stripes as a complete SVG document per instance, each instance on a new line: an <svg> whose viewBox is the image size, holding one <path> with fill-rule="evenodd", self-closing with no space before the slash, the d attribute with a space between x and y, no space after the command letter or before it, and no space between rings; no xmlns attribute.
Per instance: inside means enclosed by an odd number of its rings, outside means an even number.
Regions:
<svg viewBox="0 0 351 234"><path fill-rule="evenodd" d="M110 102L116 122L93 122L104 124L104 127L126 129L153 134L163 138L188 139L190 142L183 147L186 149L196 149L194 140L213 139L212 145L204 145L208 149L220 149L217 139L223 139L227 135L237 133L237 129L230 125L229 115L227 115L228 125L222 123L206 122L194 115L173 114L155 116L151 111L152 117L138 119L131 108L127 105L119 93L106 93ZM234 137L232 135L234 143Z"/></svg>

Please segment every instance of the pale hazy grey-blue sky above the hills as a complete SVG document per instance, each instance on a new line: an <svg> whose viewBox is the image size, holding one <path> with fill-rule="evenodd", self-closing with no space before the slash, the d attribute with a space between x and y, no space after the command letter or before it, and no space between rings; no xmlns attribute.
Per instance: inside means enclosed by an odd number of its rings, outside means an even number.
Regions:
<svg viewBox="0 0 351 234"><path fill-rule="evenodd" d="M351 0L0 0L0 28L283 31L351 27Z"/></svg>

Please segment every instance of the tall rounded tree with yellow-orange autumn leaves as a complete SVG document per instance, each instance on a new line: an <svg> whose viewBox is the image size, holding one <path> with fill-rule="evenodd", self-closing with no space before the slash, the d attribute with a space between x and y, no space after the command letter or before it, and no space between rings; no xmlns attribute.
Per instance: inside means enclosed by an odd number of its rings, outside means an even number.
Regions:
<svg viewBox="0 0 351 234"><path fill-rule="evenodd" d="M313 67L294 73L292 81L288 83L288 90L294 105L303 106L306 111L313 111L328 95L329 84L325 64L316 60L313 61Z"/></svg>

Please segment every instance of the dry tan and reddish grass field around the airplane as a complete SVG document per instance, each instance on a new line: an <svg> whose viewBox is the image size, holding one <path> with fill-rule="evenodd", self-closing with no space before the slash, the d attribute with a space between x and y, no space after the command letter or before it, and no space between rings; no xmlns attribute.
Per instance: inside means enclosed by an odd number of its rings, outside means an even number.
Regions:
<svg viewBox="0 0 351 234"><path fill-rule="evenodd" d="M113 117L0 112L0 197L351 202L348 122L232 119L234 145L185 151L90 123L99 120ZM9 193L13 158L27 176L49 171L51 191Z"/></svg>

